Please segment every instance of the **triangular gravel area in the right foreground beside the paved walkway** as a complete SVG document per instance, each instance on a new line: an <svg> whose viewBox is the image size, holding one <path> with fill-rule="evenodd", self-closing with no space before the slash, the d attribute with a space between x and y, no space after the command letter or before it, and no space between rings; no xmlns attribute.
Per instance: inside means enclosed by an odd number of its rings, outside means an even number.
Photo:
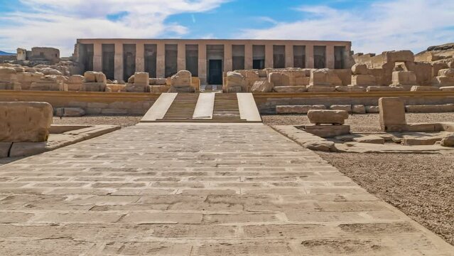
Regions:
<svg viewBox="0 0 454 256"><path fill-rule="evenodd" d="M316 153L454 245L454 155Z"/></svg>

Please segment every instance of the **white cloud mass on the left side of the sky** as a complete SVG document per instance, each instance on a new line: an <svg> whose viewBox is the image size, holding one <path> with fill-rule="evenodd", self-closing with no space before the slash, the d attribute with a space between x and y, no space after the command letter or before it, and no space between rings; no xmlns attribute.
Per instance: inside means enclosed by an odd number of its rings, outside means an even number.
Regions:
<svg viewBox="0 0 454 256"><path fill-rule="evenodd" d="M52 46L70 55L76 38L183 36L188 28L166 18L210 11L228 0L20 1L25 9L0 16L0 48Z"/></svg>

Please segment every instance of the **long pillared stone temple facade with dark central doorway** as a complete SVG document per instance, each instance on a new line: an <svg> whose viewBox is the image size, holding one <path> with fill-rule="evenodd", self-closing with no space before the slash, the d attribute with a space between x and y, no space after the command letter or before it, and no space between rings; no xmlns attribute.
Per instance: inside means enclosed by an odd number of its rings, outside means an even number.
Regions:
<svg viewBox="0 0 454 256"><path fill-rule="evenodd" d="M109 80L135 72L169 78L188 70L202 84L221 85L222 73L264 68L330 68L352 65L349 41L216 39L78 39L75 59L84 71Z"/></svg>

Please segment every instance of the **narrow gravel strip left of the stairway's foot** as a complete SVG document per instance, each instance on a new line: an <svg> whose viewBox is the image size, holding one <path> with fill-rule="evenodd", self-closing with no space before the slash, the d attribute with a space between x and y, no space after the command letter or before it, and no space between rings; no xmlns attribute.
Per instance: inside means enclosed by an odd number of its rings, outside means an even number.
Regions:
<svg viewBox="0 0 454 256"><path fill-rule="evenodd" d="M84 117L54 117L54 124L112 124L119 125L121 127L129 127L131 125L139 123L142 117L135 116L94 116L87 115Z"/></svg>

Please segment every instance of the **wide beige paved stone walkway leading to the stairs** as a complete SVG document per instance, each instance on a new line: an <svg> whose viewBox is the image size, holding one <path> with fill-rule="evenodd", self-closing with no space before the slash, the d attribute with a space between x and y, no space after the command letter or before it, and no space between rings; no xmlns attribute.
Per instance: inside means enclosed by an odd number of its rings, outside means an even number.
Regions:
<svg viewBox="0 0 454 256"><path fill-rule="evenodd" d="M150 124L0 167L0 255L454 255L256 124Z"/></svg>

